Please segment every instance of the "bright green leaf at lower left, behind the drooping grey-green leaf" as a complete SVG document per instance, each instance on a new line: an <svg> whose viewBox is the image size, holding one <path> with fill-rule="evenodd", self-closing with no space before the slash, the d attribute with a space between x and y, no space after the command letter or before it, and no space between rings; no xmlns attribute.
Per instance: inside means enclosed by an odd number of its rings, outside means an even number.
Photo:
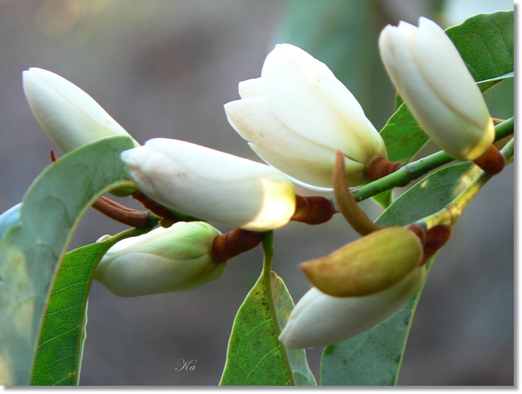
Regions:
<svg viewBox="0 0 522 394"><path fill-rule="evenodd" d="M31 380L33 386L78 384L86 338L87 297L96 267L116 242L148 230L127 230L65 254L45 312Z"/></svg>

